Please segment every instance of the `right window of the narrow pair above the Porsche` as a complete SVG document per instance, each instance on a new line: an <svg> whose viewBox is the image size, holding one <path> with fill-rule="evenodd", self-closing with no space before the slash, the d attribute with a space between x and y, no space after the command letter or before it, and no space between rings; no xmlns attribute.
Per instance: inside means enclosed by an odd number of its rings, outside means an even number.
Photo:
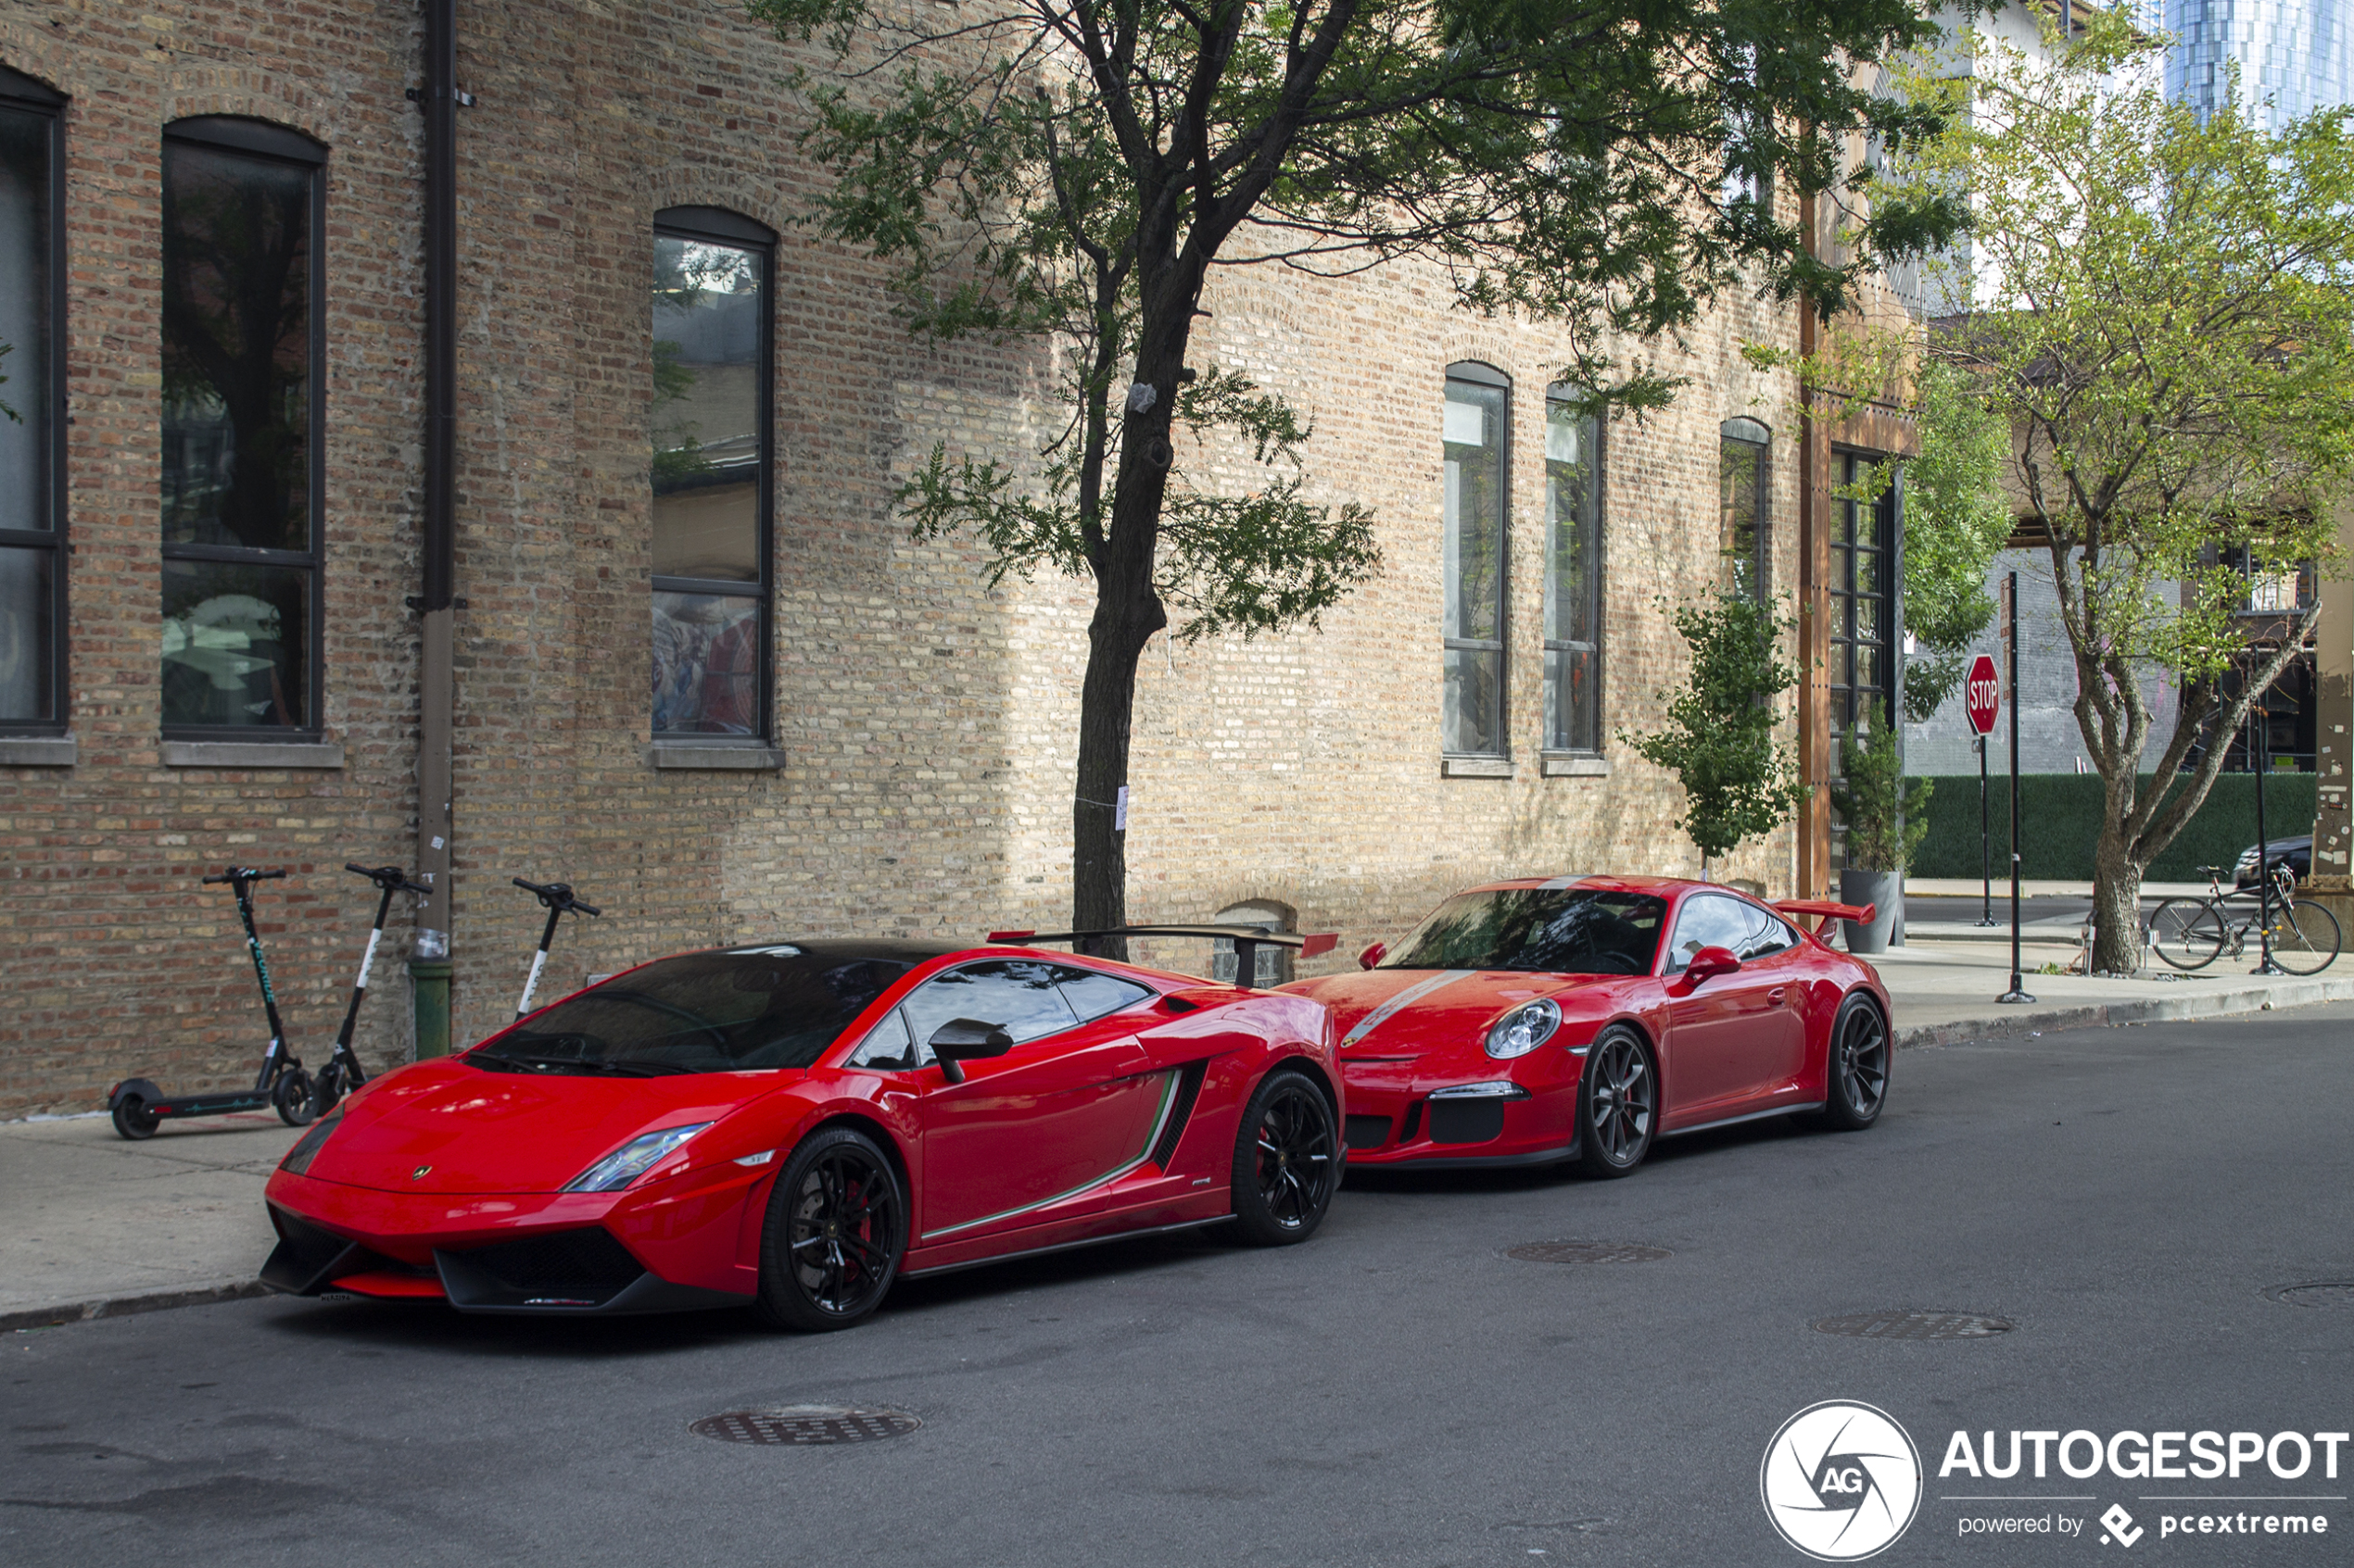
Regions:
<svg viewBox="0 0 2354 1568"><path fill-rule="evenodd" d="M1544 748L1603 750L1601 421L1577 388L1544 395Z"/></svg>

